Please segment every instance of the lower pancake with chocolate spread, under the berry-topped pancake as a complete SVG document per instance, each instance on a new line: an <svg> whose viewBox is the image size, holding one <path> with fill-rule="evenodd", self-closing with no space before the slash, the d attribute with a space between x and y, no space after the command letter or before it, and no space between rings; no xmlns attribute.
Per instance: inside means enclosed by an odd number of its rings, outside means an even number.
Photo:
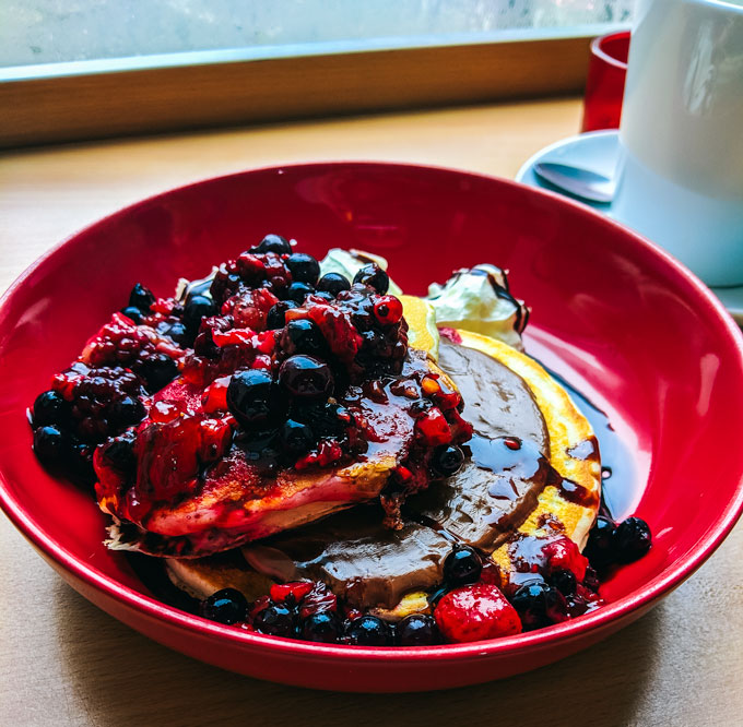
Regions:
<svg viewBox="0 0 743 727"><path fill-rule="evenodd" d="M440 583L453 543L492 552L506 582L515 570L514 534L559 532L582 548L601 487L590 426L528 356L475 333L459 331L457 339L441 342L439 365L462 393L462 414L475 430L462 469L409 500L402 531L385 531L378 511L358 508L246 546L246 560L262 577L321 580L351 605L394 620L428 608L425 592ZM504 438L522 446L509 454ZM508 497L493 496L499 485ZM192 587L202 565L208 559L179 564L177 577Z"/></svg>

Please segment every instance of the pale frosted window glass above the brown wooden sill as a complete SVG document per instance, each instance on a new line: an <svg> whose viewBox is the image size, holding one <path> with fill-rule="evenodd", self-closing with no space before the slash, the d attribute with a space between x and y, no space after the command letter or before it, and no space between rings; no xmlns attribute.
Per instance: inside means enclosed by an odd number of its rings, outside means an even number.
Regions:
<svg viewBox="0 0 743 727"><path fill-rule="evenodd" d="M4 0L0 67L193 50L550 37L628 24L634 0ZM601 29L597 29L599 35ZM462 37L464 36L464 37ZM295 48L292 48L295 46Z"/></svg>

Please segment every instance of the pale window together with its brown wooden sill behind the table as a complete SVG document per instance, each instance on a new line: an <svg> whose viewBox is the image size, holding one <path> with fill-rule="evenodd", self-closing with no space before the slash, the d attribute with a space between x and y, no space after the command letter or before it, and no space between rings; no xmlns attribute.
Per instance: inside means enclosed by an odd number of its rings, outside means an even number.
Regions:
<svg viewBox="0 0 743 727"><path fill-rule="evenodd" d="M633 0L4 0L0 147L578 94Z"/></svg>

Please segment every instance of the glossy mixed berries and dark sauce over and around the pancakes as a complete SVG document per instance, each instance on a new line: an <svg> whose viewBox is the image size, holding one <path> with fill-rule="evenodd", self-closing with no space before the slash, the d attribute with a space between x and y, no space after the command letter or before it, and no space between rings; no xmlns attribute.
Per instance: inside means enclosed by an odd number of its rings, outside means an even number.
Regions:
<svg viewBox="0 0 743 727"><path fill-rule="evenodd" d="M492 283L517 306L521 331L528 311ZM392 426L393 404L413 422L414 437L381 494L387 526L411 517L403 509L408 494L458 472L465 453L493 473L488 496L495 500L514 501L519 481L543 479L565 499L595 505L591 492L561 477L529 442L471 439L459 393L409 351L402 305L387 295L388 287L389 277L373 263L353 281L320 278L318 262L276 235L223 263L213 279L189 285L179 299L156 298L137 284L122 312L35 401L30 419L36 453L74 479L97 478L102 506L139 526L156 504L179 503L219 475L236 449L251 472L269 478L281 469L363 461ZM622 502L632 457L606 417L561 383L597 432L606 501ZM569 454L588 460L598 450L587 440ZM601 604L595 570L605 573L641 557L651 540L642 521L617 525L602 504L586 549L594 568L545 522L546 535L510 538L515 572L504 579L487 553L425 515L413 519L440 533L451 551L439 587L428 596L431 615L409 616L397 627L341 603L321 582L276 584L253 604L232 588L199 603L170 584L161 560L132 555L130 562L164 600L247 631L319 643L422 646L441 643L444 634L455 641L507 635L592 610ZM236 553L226 557L240 560Z"/></svg>

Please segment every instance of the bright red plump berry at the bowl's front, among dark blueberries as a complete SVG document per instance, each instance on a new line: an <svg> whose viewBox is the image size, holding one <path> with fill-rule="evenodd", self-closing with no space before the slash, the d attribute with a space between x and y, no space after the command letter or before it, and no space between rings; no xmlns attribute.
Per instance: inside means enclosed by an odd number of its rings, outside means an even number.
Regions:
<svg viewBox="0 0 743 727"><path fill-rule="evenodd" d="M516 609L494 585L484 583L449 592L434 618L447 641L470 642L521 633Z"/></svg>

